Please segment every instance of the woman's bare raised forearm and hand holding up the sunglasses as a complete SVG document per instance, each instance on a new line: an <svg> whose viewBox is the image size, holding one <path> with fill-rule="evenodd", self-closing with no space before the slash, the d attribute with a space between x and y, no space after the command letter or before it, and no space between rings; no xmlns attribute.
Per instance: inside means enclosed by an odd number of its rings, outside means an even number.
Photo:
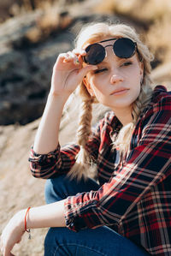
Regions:
<svg viewBox="0 0 171 256"><path fill-rule="evenodd" d="M96 66L83 63L82 57L85 54L85 51L74 50L57 57L49 97L34 140L34 152L47 154L56 149L64 104L85 74L96 68Z"/></svg>

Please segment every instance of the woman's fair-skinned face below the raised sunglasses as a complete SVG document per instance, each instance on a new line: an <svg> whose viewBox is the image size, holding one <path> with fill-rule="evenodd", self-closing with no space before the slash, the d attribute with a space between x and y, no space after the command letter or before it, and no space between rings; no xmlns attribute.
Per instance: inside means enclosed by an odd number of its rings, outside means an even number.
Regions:
<svg viewBox="0 0 171 256"><path fill-rule="evenodd" d="M132 107L139 96L140 80L143 78L143 63L139 62L137 54L130 58L115 56L112 45L103 42L107 56L102 63L97 64L97 70L89 72L85 79L85 86L97 100L109 106L112 110Z"/></svg>

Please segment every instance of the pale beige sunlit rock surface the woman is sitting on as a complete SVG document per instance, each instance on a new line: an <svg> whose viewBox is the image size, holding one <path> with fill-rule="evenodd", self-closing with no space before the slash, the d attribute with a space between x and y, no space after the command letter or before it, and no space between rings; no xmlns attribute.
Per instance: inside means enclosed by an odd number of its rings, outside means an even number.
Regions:
<svg viewBox="0 0 171 256"><path fill-rule="evenodd" d="M74 105L68 104L62 115L60 144L75 141L78 123L78 98ZM93 123L101 118L107 109L99 110L94 106ZM28 206L44 205L44 180L32 177L27 161L39 119L27 125L0 126L0 233L5 224L17 211ZM44 236L47 229L32 229L32 241L27 234L21 243L15 246L15 255L42 256L44 254ZM29 253L27 253L29 252Z"/></svg>

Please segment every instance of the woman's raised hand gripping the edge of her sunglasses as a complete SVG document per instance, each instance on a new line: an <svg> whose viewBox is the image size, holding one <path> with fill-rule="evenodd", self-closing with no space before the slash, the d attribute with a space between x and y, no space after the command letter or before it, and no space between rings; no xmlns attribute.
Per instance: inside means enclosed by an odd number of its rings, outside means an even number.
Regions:
<svg viewBox="0 0 171 256"><path fill-rule="evenodd" d="M53 68L50 92L57 96L69 96L83 80L85 74L96 69L94 65L84 65L84 50L68 51L57 57Z"/></svg>

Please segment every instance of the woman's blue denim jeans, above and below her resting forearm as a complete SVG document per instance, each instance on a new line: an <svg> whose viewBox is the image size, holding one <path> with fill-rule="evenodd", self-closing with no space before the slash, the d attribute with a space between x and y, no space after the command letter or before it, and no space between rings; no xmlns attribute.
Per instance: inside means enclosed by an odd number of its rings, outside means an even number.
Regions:
<svg viewBox="0 0 171 256"><path fill-rule="evenodd" d="M48 180L45 199L48 204L65 199L68 195L97 190L97 182L70 180L59 176ZM144 256L147 253L132 241L107 226L74 232L68 228L50 228L44 241L44 256Z"/></svg>

